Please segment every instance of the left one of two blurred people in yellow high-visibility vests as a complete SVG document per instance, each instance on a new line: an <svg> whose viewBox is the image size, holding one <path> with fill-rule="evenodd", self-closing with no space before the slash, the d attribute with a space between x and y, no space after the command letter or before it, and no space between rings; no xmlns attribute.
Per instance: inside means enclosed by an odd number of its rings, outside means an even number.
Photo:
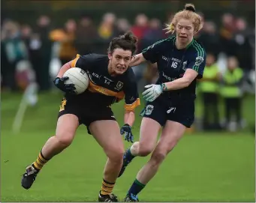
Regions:
<svg viewBox="0 0 256 203"><path fill-rule="evenodd" d="M220 73L215 64L215 56L208 53L206 67L204 68L203 79L200 79L199 90L203 99L203 129L219 129L218 90ZM211 119L212 117L212 119ZM212 122L211 122L212 120Z"/></svg>

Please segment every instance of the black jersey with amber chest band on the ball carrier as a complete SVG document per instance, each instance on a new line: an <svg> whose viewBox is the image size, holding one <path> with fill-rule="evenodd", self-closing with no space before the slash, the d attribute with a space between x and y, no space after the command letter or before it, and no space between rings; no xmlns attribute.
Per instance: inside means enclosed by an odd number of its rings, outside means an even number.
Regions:
<svg viewBox="0 0 256 203"><path fill-rule="evenodd" d="M77 55L77 58L71 61L71 67L80 67L86 71L89 87L82 94L67 94L65 97L86 106L110 106L122 99L125 99L126 110L133 110L140 105L133 70L129 68L122 75L110 76L108 63L107 55Z"/></svg>

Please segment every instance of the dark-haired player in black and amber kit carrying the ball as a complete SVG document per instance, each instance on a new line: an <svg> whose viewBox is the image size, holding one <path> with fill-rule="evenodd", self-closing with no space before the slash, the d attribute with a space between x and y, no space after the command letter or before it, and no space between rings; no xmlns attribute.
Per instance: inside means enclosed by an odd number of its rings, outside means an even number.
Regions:
<svg viewBox="0 0 256 203"><path fill-rule="evenodd" d="M125 98L125 125L121 133L125 134L125 139L132 141L134 109L140 105L140 99L133 70L128 69L128 64L136 50L136 43L137 37L128 32L110 42L108 55L77 55L61 68L54 83L66 94L59 110L56 136L48 139L37 160L26 168L22 179L24 188L32 186L44 164L71 145L77 127L85 124L108 157L98 201L118 201L112 191L122 167L125 149L110 106ZM63 78L63 74L72 67L80 67L89 75L89 87L79 95L72 94L73 84L65 85L64 82L67 78Z"/></svg>

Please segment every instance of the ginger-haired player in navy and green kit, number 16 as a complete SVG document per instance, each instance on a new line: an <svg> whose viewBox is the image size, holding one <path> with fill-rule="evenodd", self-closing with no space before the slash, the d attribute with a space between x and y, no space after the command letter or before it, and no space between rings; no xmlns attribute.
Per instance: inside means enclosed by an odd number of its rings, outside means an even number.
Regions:
<svg viewBox="0 0 256 203"><path fill-rule="evenodd" d="M206 52L194 34L202 28L200 16L193 4L186 4L173 17L168 26L175 37L158 41L142 53L135 55L130 66L143 61L157 63L159 79L154 85L146 85L143 97L147 103L141 115L140 142L135 142L125 152L122 170L136 157L152 152L149 162L138 172L128 190L125 202L137 202L137 194L154 177L164 158L176 146L194 121L194 100L197 79L202 78ZM161 137L156 144L158 131Z"/></svg>

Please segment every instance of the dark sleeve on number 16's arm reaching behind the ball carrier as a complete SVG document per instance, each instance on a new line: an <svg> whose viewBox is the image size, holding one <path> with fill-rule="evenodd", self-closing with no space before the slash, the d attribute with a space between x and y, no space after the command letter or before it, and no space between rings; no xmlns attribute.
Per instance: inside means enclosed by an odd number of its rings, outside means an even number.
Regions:
<svg viewBox="0 0 256 203"><path fill-rule="evenodd" d="M143 49L142 54L146 61L150 61L152 64L157 62L161 52L164 50L164 42L166 40L160 40L156 43L153 43L151 46Z"/></svg>

